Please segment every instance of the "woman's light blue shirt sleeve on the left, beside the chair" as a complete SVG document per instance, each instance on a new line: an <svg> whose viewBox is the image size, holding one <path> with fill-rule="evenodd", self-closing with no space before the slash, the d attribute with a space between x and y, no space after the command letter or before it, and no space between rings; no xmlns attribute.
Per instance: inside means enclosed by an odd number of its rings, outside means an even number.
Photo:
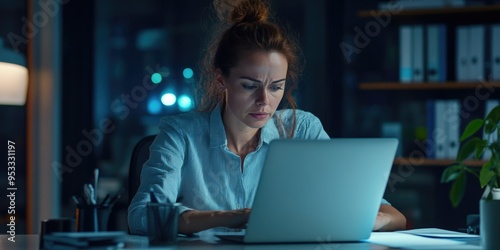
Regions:
<svg viewBox="0 0 500 250"><path fill-rule="evenodd" d="M159 202L175 202L181 182L184 146L182 136L166 122L160 123L160 131L150 147L149 160L141 171L141 184L128 208L128 224L131 234L147 234L146 204L150 201L150 188ZM181 206L180 213L190 208Z"/></svg>

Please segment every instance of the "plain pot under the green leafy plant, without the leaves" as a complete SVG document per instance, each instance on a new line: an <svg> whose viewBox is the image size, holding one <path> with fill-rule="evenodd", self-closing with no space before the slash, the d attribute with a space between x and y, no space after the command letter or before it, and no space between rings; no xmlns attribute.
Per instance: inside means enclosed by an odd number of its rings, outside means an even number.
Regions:
<svg viewBox="0 0 500 250"><path fill-rule="evenodd" d="M500 200L484 200L479 202L479 233L481 246L486 250L500 249Z"/></svg>

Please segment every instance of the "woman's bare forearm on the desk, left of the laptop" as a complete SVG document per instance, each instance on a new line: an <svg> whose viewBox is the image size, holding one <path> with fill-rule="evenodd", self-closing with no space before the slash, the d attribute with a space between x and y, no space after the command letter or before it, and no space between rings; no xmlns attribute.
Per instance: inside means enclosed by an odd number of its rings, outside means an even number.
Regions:
<svg viewBox="0 0 500 250"><path fill-rule="evenodd" d="M179 216L179 233L192 234L215 227L244 228L250 208L228 211L189 210Z"/></svg>

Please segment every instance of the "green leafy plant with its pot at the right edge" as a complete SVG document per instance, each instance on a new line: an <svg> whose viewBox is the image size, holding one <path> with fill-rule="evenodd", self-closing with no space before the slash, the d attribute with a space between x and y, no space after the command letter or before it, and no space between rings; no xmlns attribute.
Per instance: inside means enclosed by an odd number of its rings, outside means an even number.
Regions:
<svg viewBox="0 0 500 250"><path fill-rule="evenodd" d="M483 131L483 137L478 136ZM441 182L452 182L450 200L454 207L461 202L466 188L466 175L471 174L479 179L484 189L480 200L480 234L484 249L500 249L500 106L493 108L485 119L470 121L460 136L461 147L456 163L448 166ZM485 152L491 157L486 159L480 170L465 165L466 159L479 160Z"/></svg>

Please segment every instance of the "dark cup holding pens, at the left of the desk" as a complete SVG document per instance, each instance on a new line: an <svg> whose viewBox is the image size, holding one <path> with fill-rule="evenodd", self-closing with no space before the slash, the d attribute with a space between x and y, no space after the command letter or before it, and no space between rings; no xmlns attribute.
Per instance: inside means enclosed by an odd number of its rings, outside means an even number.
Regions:
<svg viewBox="0 0 500 250"><path fill-rule="evenodd" d="M107 231L109 215L112 206L80 205L76 207L76 231L100 232Z"/></svg>

